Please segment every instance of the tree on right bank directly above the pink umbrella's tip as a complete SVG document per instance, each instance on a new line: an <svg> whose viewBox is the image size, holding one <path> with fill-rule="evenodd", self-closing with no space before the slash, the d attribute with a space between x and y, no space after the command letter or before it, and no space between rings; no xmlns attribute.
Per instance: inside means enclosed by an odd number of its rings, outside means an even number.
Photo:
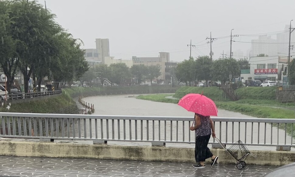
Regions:
<svg viewBox="0 0 295 177"><path fill-rule="evenodd" d="M196 59L196 76L198 80L205 80L208 87L208 80L211 79L213 62L209 56L199 56Z"/></svg>

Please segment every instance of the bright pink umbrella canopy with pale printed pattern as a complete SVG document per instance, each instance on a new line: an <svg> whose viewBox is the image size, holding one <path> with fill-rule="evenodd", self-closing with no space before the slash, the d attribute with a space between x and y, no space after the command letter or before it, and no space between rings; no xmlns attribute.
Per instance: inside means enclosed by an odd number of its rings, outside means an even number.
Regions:
<svg viewBox="0 0 295 177"><path fill-rule="evenodd" d="M203 116L217 116L218 110L212 99L203 94L189 93L179 100L178 105L184 109Z"/></svg>

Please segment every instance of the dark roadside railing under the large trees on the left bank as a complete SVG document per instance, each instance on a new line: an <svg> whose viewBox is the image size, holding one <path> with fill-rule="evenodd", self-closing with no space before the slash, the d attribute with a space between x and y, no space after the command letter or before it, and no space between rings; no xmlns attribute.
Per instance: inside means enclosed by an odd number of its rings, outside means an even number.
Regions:
<svg viewBox="0 0 295 177"><path fill-rule="evenodd" d="M34 97L40 97L40 96L57 95L57 94L61 94L61 93L62 93L62 90L7 94L6 100L34 98ZM5 100L5 95L0 95L0 101L4 101L4 100Z"/></svg>

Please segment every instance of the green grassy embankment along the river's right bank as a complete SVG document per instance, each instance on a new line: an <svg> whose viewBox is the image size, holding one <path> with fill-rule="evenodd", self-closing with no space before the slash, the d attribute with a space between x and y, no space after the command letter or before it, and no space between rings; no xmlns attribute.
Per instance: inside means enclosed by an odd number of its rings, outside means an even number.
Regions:
<svg viewBox="0 0 295 177"><path fill-rule="evenodd" d="M211 98L216 106L234 112L259 118L294 118L294 103L281 103L275 100L275 87L239 88L236 92L241 96L238 101L229 101L224 98L224 93L218 87L181 87L173 97L180 99L188 93L202 93ZM178 100L165 98L165 94L138 96L138 99L148 99L160 102L177 103ZM271 107L270 107L271 106ZM279 108L276 108L279 107Z"/></svg>

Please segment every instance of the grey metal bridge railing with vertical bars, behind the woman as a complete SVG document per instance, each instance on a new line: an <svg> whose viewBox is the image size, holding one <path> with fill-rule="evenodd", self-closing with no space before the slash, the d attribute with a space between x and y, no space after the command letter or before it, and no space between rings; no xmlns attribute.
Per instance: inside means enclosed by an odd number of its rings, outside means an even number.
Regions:
<svg viewBox="0 0 295 177"><path fill-rule="evenodd" d="M191 117L0 113L0 137L194 143ZM212 118L223 144L295 147L295 119ZM279 128L278 128L279 127ZM212 138L211 138L212 140ZM210 144L218 144L210 141Z"/></svg>

